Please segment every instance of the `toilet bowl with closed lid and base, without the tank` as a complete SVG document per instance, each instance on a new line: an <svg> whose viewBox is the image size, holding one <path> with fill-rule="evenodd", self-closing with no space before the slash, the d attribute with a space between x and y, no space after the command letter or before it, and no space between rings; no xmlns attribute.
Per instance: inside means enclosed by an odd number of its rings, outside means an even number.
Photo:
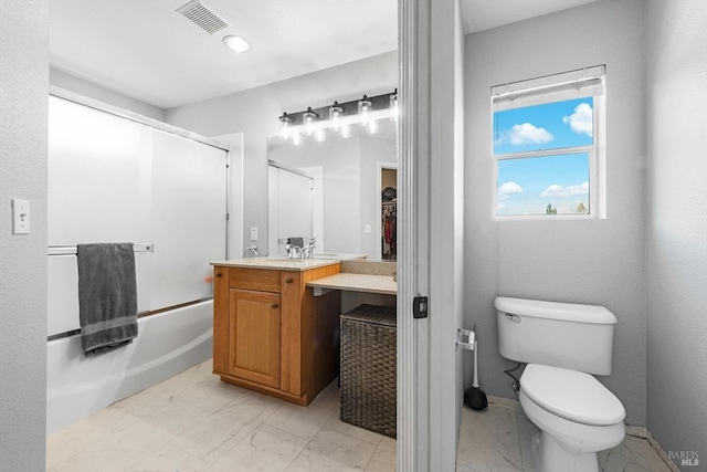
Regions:
<svg viewBox="0 0 707 472"><path fill-rule="evenodd" d="M597 452L625 436L623 405L589 374L529 364L519 399L541 431L532 440L538 471L598 472Z"/></svg>

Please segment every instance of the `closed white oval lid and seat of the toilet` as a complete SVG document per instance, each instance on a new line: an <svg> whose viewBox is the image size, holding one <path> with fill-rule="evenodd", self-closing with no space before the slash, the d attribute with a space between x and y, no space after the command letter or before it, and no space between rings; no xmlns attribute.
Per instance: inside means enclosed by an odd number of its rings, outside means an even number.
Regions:
<svg viewBox="0 0 707 472"><path fill-rule="evenodd" d="M621 401L589 374L528 364L520 388L541 408L584 424L615 424L626 417Z"/></svg>

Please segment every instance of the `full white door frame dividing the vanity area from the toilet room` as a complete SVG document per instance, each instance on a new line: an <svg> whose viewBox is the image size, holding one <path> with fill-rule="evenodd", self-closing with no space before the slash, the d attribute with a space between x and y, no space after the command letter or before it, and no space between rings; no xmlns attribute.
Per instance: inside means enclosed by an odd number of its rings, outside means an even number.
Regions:
<svg viewBox="0 0 707 472"><path fill-rule="evenodd" d="M463 45L458 0L401 0L399 471L453 471L461 420ZM412 318L413 297L429 317Z"/></svg>

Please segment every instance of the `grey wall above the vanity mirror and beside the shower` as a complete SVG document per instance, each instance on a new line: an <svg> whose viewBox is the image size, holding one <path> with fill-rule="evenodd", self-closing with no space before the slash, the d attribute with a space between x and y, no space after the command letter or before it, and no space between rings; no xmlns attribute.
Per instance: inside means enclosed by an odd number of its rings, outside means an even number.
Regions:
<svg viewBox="0 0 707 472"><path fill-rule="evenodd" d="M276 82L245 92L170 108L167 123L202 136L243 132L244 240L258 228L257 247L267 248L267 144L279 133L277 117L283 112L300 112L346 102L363 94L391 92L398 83L398 54L389 52L349 64Z"/></svg>

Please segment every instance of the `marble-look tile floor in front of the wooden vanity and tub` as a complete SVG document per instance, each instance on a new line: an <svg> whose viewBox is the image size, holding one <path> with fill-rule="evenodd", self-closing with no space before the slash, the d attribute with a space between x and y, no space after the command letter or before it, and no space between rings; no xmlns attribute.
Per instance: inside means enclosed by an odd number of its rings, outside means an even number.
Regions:
<svg viewBox="0 0 707 472"><path fill-rule="evenodd" d="M200 364L51 434L46 470L395 470L395 440L339 420L336 382L303 408L211 369Z"/></svg>

